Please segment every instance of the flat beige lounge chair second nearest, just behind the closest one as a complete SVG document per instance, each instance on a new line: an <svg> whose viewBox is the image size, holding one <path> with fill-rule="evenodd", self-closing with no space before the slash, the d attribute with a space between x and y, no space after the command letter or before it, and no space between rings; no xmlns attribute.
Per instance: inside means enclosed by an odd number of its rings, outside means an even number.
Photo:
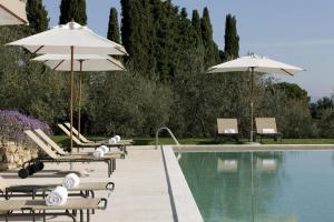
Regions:
<svg viewBox="0 0 334 222"><path fill-rule="evenodd" d="M60 183L59 183L60 184ZM0 176L0 198L9 200L10 198L26 198L31 196L42 196L42 191L52 190L59 184L24 184L24 185L11 185L6 182L4 179ZM114 182L89 182L80 183L76 188L68 189L70 196L82 196L82 198L95 198L96 191L114 191Z"/></svg>

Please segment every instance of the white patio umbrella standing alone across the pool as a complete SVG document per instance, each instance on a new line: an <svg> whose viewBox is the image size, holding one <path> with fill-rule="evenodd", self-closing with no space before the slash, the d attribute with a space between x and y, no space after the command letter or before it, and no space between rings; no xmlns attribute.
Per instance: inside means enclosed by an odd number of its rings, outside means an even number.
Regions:
<svg viewBox="0 0 334 222"><path fill-rule="evenodd" d="M250 142L253 142L254 72L294 75L299 71L303 71L303 69L271 60L265 57L250 54L212 67L208 69L207 73L250 72Z"/></svg>

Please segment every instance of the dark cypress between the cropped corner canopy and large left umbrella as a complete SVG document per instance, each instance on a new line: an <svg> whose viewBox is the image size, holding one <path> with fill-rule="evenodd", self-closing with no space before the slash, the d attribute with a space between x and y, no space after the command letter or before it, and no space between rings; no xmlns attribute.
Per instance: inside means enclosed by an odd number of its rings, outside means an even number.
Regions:
<svg viewBox="0 0 334 222"><path fill-rule="evenodd" d="M42 0L27 1L27 17L33 33L46 31L49 28L48 11Z"/></svg>

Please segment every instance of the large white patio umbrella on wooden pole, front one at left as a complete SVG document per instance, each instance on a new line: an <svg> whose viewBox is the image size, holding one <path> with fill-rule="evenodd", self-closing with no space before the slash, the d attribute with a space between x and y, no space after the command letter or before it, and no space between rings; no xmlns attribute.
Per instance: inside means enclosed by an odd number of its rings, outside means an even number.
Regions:
<svg viewBox="0 0 334 222"><path fill-rule="evenodd" d="M71 95L70 95L70 150L72 151L73 125L73 81L75 81L75 53L76 54L127 54L125 48L116 42L94 33L87 27L76 22L60 24L51 30L27 37L9 43L21 46L32 53L70 54L71 58Z"/></svg>

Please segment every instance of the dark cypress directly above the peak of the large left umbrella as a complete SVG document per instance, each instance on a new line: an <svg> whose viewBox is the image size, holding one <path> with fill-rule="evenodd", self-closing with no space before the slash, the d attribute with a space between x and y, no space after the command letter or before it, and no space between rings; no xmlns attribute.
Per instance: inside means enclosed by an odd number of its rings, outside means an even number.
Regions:
<svg viewBox="0 0 334 222"><path fill-rule="evenodd" d="M61 0L59 24L71 20L82 26L87 24L86 0Z"/></svg>

